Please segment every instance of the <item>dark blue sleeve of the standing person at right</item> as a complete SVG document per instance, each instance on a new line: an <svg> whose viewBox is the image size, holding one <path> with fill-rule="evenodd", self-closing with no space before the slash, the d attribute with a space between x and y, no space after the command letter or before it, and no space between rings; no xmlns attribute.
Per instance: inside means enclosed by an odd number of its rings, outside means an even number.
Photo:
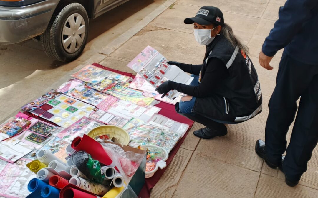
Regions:
<svg viewBox="0 0 318 198"><path fill-rule="evenodd" d="M301 30L303 22L311 16L311 10L318 0L287 0L279 10L279 19L266 37L262 52L273 56L278 50L286 47Z"/></svg>

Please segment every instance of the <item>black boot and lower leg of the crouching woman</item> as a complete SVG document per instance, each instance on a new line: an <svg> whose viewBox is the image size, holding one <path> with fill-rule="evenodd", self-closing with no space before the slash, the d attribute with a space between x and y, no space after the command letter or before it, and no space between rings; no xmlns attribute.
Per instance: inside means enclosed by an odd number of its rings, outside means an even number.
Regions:
<svg viewBox="0 0 318 198"><path fill-rule="evenodd" d="M176 112L179 113L179 103L176 104ZM179 113L179 114L206 126L202 129L199 129L193 132L193 134L197 137L204 138L204 139L211 139L213 137L225 136L227 134L226 126L222 123L215 122L199 114L196 114L196 115L191 115L189 113Z"/></svg>

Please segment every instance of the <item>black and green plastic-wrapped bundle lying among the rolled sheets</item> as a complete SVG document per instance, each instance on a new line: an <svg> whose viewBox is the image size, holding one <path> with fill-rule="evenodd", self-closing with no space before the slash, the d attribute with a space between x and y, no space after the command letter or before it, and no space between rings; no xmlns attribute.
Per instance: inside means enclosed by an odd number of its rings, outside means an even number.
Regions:
<svg viewBox="0 0 318 198"><path fill-rule="evenodd" d="M85 151L79 151L72 156L73 164L82 172L86 177L96 183L102 183L104 175L101 174L100 163L93 160Z"/></svg>

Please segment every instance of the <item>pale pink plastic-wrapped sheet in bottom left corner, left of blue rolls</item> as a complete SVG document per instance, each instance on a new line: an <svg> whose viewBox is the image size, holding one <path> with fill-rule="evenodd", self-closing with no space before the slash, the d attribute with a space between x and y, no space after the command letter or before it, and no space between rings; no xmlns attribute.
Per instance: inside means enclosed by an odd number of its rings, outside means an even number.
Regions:
<svg viewBox="0 0 318 198"><path fill-rule="evenodd" d="M24 158L16 163L7 163L0 160L0 196L21 198L30 194L28 183L36 175L26 167L29 162Z"/></svg>

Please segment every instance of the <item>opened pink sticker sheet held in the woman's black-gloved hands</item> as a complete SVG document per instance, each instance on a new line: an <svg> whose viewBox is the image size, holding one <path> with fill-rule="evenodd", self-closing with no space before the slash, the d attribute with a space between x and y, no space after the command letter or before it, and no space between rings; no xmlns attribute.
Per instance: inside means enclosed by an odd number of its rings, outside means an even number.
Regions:
<svg viewBox="0 0 318 198"><path fill-rule="evenodd" d="M175 65L169 65L168 60L162 56L156 49L147 46L134 60L128 63L128 67L139 73L142 78L148 81L154 87L158 87L167 80L189 85L193 77L183 72ZM178 96L176 90L167 94L169 99Z"/></svg>

